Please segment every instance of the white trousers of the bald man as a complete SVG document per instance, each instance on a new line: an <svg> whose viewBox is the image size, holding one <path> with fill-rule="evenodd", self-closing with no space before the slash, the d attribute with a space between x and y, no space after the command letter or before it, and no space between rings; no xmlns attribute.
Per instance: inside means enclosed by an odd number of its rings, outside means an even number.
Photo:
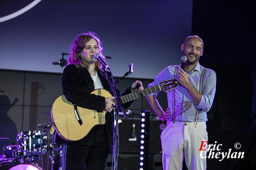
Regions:
<svg viewBox="0 0 256 170"><path fill-rule="evenodd" d="M206 158L201 158L200 153L205 157L207 151L199 150L201 141L208 141L206 122L196 125L195 122L167 121L161 141L164 170L182 170L184 157L188 170L206 170Z"/></svg>

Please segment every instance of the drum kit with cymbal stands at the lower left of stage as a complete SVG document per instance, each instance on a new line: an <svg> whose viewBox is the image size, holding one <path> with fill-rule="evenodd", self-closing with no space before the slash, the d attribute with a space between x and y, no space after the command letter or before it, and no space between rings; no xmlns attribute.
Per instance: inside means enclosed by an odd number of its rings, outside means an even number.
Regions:
<svg viewBox="0 0 256 170"><path fill-rule="evenodd" d="M7 145L3 147L0 167L8 166L11 167L10 170L42 170L37 163L33 162L42 159L42 155L46 154L47 150L50 151L52 149L52 154L49 157L52 159L51 169L53 170L54 150L60 150L61 155L61 146L54 148L56 146L54 143L48 146L46 142L47 138L47 131L19 132L16 136L18 145ZM9 138L0 137L0 139Z"/></svg>

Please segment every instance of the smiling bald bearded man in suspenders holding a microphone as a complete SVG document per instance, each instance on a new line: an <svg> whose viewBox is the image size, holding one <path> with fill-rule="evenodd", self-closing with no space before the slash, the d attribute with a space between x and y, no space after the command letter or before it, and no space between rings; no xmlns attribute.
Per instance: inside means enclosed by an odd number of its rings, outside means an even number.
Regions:
<svg viewBox="0 0 256 170"><path fill-rule="evenodd" d="M187 37L180 49L187 57L184 70L181 65L168 66L154 82L148 84L151 87L163 80L178 80L179 86L167 93L166 111L156 99L158 92L146 98L159 119L166 121L166 128L161 134L163 169L181 170L185 158L189 170L205 170L207 112L216 92L216 73L199 64L204 50L200 37Z"/></svg>

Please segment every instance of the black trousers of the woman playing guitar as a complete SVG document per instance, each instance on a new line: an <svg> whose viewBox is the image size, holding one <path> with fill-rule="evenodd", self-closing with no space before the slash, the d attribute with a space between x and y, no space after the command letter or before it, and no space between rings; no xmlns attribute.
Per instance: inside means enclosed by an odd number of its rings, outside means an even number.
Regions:
<svg viewBox="0 0 256 170"><path fill-rule="evenodd" d="M63 144L62 170L104 170L109 145L105 127L94 127L89 145Z"/></svg>

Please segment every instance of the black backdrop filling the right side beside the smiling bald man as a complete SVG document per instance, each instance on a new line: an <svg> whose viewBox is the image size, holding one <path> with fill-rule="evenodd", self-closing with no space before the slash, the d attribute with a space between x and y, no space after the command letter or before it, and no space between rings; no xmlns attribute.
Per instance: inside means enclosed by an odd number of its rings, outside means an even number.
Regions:
<svg viewBox="0 0 256 170"><path fill-rule="evenodd" d="M232 148L246 155L221 162L207 159L208 169L256 169L254 16L248 1L193 1L192 34L205 45L200 64L217 74L216 96L208 112L208 142L222 144L221 151ZM234 149L236 142L241 149Z"/></svg>

